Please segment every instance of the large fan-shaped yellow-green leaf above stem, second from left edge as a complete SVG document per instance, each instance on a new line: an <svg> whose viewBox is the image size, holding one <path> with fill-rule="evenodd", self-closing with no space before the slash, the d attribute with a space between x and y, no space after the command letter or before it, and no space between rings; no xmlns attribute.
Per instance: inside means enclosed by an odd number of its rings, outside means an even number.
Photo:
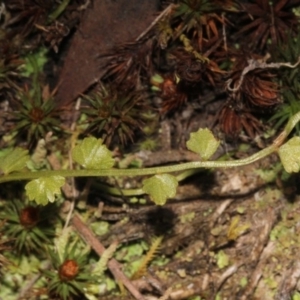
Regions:
<svg viewBox="0 0 300 300"><path fill-rule="evenodd" d="M110 169L115 161L111 151L102 144L102 139L85 138L72 151L73 159L86 169Z"/></svg>

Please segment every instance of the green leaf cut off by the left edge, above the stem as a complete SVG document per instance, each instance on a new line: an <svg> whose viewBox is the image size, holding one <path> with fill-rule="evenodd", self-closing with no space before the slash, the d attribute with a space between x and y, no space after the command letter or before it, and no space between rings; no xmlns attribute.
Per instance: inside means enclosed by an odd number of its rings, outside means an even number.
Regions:
<svg viewBox="0 0 300 300"><path fill-rule="evenodd" d="M13 171L20 171L26 166L29 159L27 150L14 148L0 157L0 169L5 175Z"/></svg>

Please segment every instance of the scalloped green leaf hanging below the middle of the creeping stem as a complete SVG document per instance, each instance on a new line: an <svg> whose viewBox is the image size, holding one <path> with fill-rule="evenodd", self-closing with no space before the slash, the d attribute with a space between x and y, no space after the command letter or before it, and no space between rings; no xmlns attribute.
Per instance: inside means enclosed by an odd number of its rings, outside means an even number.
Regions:
<svg viewBox="0 0 300 300"><path fill-rule="evenodd" d="M157 205L164 205L168 198L176 195L177 179L169 174L160 174L143 181L143 191Z"/></svg>

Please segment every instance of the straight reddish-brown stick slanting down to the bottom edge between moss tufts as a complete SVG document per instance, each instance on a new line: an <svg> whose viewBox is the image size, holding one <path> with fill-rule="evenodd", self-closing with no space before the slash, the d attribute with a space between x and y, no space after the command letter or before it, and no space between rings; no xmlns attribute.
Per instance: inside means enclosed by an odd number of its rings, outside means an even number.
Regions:
<svg viewBox="0 0 300 300"><path fill-rule="evenodd" d="M79 233L79 235L89 244L95 252L101 256L105 247L100 243L100 241L96 238L94 233L84 224L78 215L74 215L72 219L72 225ZM137 300L144 300L143 295L135 288L135 286L131 283L131 281L124 275L119 267L119 263L115 259L111 259L108 262L108 268L114 275L116 281L122 282L124 286L128 289L128 291L134 296Z"/></svg>

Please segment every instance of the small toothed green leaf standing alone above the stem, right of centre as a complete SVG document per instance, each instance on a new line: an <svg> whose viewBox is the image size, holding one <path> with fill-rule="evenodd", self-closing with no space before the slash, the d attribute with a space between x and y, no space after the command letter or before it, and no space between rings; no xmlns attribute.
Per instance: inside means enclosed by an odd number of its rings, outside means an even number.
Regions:
<svg viewBox="0 0 300 300"><path fill-rule="evenodd" d="M202 160L209 159L216 152L219 144L220 141L207 128L200 128L197 132L192 132L186 143L187 148L198 153Z"/></svg>

